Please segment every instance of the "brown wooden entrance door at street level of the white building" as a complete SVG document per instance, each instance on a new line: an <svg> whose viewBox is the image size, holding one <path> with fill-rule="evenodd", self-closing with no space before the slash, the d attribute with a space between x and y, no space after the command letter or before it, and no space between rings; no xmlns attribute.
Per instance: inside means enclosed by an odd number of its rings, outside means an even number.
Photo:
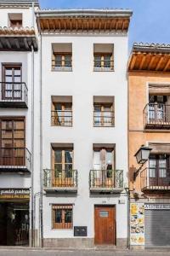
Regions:
<svg viewBox="0 0 170 256"><path fill-rule="evenodd" d="M95 244L116 244L115 206L96 206L94 208L94 232Z"/></svg>

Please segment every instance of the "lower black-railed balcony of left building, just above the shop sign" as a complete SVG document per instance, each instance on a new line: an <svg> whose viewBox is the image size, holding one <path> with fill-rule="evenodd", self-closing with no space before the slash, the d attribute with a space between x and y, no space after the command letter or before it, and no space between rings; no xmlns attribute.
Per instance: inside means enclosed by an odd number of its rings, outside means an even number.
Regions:
<svg viewBox="0 0 170 256"><path fill-rule="evenodd" d="M0 148L0 172L31 172L31 153L27 148Z"/></svg>

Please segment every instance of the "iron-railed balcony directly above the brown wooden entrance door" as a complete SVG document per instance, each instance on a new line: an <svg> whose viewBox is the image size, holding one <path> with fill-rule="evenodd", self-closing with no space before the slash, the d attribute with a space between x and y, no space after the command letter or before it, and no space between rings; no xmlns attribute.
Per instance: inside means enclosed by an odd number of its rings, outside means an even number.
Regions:
<svg viewBox="0 0 170 256"><path fill-rule="evenodd" d="M120 193L123 190L123 171L91 170L89 183L92 193Z"/></svg>

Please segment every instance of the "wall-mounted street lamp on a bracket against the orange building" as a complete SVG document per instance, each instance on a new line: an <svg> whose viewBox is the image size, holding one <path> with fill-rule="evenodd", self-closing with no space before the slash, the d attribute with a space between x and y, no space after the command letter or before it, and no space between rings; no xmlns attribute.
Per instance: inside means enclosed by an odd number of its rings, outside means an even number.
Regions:
<svg viewBox="0 0 170 256"><path fill-rule="evenodd" d="M149 156L150 156L150 151L151 151L152 148L149 148L149 147L145 147L144 145L142 145L139 150L136 152L136 154L134 154L134 156L136 157L136 160L137 160L137 163L139 165L141 165L139 167L139 169L134 172L133 174L133 179L135 180L136 177L138 176L139 174L139 171L142 169L142 167L144 166L144 163L149 159Z"/></svg>

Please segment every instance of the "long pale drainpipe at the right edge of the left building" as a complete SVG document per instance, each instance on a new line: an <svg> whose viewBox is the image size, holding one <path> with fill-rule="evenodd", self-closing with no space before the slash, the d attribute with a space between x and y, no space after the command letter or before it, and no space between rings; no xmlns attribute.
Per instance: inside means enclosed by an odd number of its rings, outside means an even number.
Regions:
<svg viewBox="0 0 170 256"><path fill-rule="evenodd" d="M32 3L31 26L34 26L34 3ZM34 244L34 48L31 45L31 247Z"/></svg>

